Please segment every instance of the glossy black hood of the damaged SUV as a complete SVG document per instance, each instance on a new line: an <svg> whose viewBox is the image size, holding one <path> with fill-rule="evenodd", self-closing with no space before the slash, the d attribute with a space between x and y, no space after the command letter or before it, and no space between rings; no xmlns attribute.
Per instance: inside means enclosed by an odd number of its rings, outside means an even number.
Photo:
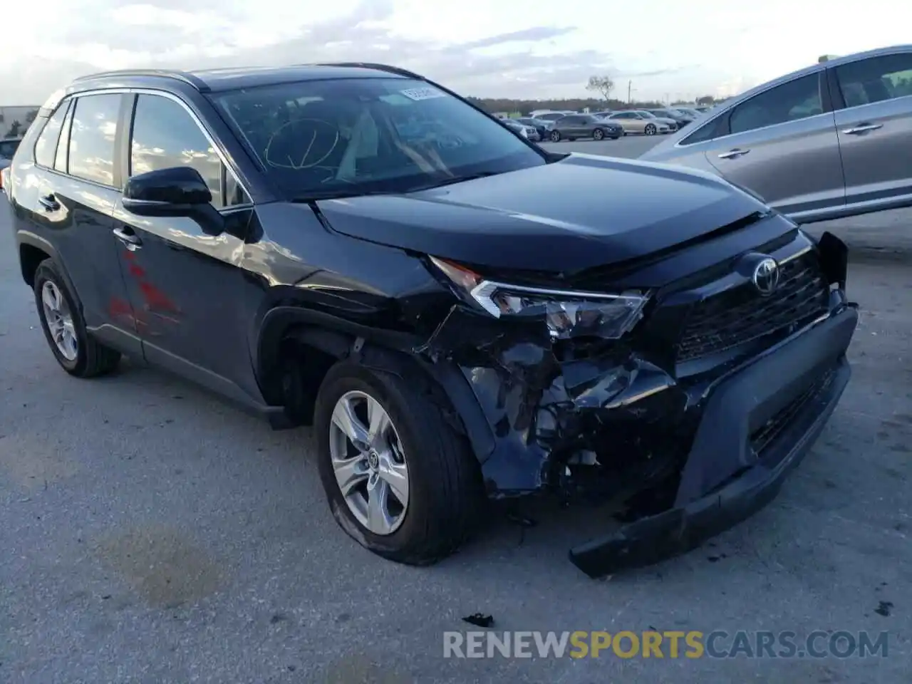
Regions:
<svg viewBox="0 0 912 684"><path fill-rule="evenodd" d="M636 259L766 209L709 173L578 154L434 190L317 204L351 237L555 273Z"/></svg>

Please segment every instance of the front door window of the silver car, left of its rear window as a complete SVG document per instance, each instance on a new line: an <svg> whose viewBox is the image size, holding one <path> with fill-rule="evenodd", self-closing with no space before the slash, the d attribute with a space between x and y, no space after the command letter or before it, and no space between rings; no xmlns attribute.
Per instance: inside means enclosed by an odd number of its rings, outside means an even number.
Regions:
<svg viewBox="0 0 912 684"><path fill-rule="evenodd" d="M741 103L731 110L729 126L732 133L744 133L823 113L820 74L814 73L764 90Z"/></svg>

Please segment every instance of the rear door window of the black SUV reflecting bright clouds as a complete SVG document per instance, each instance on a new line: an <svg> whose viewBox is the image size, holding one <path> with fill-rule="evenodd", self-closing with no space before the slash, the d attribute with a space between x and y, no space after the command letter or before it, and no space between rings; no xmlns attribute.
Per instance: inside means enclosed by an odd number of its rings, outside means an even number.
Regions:
<svg viewBox="0 0 912 684"><path fill-rule="evenodd" d="M120 95L77 98L69 133L69 175L114 185L114 137Z"/></svg>

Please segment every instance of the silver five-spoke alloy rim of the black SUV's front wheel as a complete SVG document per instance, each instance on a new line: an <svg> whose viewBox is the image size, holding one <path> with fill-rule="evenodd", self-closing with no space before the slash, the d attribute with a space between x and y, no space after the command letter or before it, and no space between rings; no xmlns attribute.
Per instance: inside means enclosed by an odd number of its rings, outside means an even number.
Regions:
<svg viewBox="0 0 912 684"><path fill-rule="evenodd" d="M365 392L346 392L329 425L329 452L348 509L372 534L393 534L409 508L409 467L389 413Z"/></svg>

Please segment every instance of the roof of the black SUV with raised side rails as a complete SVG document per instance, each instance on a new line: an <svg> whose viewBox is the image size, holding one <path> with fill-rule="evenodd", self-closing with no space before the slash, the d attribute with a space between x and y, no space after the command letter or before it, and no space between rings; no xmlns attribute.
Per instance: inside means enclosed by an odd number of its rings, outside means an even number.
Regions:
<svg viewBox="0 0 912 684"><path fill-rule="evenodd" d="M422 78L407 69L373 62L332 64L295 64L284 67L227 67L180 71L176 69L120 69L76 78L58 90L42 106L42 113L57 107L67 95L103 88L193 88L215 93L240 88L256 88L295 81L335 80L340 78Z"/></svg>

